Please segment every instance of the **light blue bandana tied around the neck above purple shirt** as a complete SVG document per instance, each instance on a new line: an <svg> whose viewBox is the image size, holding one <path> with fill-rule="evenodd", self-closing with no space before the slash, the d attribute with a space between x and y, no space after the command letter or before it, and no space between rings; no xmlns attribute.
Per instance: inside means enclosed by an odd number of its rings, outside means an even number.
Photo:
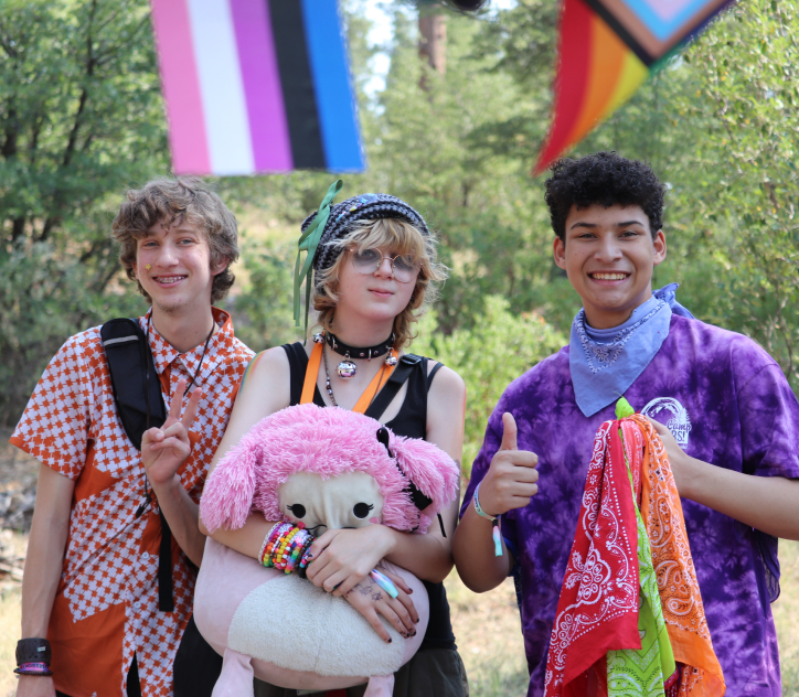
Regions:
<svg viewBox="0 0 799 697"><path fill-rule="evenodd" d="M594 329L580 310L572 323L568 365L574 396L585 416L594 416L624 396L643 373L669 335L671 315L693 319L669 283L632 311L630 319L611 329Z"/></svg>

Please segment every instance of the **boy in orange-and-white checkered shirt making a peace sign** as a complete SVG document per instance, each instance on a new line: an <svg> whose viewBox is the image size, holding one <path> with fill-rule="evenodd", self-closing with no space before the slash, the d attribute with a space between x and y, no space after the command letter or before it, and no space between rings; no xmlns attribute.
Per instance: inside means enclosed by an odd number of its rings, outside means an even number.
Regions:
<svg viewBox="0 0 799 697"><path fill-rule="evenodd" d="M44 371L11 438L41 462L18 697L172 695L205 541L198 503L253 356L212 305L238 258L236 221L216 194L196 180L150 182L128 192L113 233L152 304L139 323L169 416L139 452L116 411L99 326L68 339ZM159 609L161 514L171 611Z"/></svg>

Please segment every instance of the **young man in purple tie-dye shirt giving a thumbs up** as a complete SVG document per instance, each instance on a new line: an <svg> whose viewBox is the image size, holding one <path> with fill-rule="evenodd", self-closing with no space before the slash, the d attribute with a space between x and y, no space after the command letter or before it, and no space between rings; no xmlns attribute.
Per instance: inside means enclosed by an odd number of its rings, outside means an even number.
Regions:
<svg viewBox="0 0 799 697"><path fill-rule="evenodd" d="M546 182L555 262L583 309L569 345L500 398L452 545L476 592L515 576L530 697L544 693L594 435L621 395L665 444L726 694L781 694L770 603L777 538L799 539L799 403L755 342L693 319L675 285L652 291L663 192L648 165L607 152L562 160ZM500 516L502 557L476 495Z"/></svg>

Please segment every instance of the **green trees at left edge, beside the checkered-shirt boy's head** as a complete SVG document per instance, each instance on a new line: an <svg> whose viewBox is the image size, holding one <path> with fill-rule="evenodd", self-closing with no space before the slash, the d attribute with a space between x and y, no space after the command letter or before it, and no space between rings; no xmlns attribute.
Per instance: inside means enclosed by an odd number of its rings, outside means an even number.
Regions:
<svg viewBox="0 0 799 697"><path fill-rule="evenodd" d="M1 0L0 420L66 336L140 309L108 230L166 156L145 0Z"/></svg>

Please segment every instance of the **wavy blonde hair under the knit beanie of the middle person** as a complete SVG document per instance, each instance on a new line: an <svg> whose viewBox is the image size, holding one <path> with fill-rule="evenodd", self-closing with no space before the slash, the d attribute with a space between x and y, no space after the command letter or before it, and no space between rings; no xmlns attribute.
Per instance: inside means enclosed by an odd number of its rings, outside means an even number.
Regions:
<svg viewBox="0 0 799 697"><path fill-rule="evenodd" d="M339 274L349 256L347 253L351 249L391 249L392 254L411 256L419 262L419 275L411 301L394 318L394 345L397 349L408 345L416 339L414 324L436 301L439 286L448 276L447 267L437 261L436 239L432 235L423 235L400 218L377 218L355 222L347 235L329 244L338 247L340 253L331 266L316 275L311 302L319 314L312 331L318 331L318 328L334 331Z"/></svg>

